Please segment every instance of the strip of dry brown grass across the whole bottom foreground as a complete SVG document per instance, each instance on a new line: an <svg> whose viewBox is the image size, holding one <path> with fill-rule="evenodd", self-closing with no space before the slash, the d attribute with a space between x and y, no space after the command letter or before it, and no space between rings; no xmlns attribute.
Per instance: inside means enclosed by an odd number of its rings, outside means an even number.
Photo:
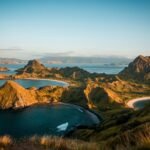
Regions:
<svg viewBox="0 0 150 150"><path fill-rule="evenodd" d="M85 142L56 136L32 136L15 140L10 136L0 137L0 150L148 150L150 148L149 127L134 134L126 132L109 141Z"/></svg>

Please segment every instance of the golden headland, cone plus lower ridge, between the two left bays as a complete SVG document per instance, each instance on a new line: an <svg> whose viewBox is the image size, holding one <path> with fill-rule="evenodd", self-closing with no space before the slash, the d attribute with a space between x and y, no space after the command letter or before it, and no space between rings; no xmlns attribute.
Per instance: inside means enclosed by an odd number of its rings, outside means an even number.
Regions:
<svg viewBox="0 0 150 150"><path fill-rule="evenodd" d="M0 87L0 109L17 109L33 104L61 101L63 87L47 86L40 89L25 89L18 83L8 80Z"/></svg>

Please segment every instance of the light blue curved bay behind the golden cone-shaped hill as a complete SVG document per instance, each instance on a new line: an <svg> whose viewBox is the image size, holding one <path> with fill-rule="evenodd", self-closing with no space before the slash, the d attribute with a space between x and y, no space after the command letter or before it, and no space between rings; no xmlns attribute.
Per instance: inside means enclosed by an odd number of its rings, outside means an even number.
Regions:
<svg viewBox="0 0 150 150"><path fill-rule="evenodd" d="M13 80L25 88L29 87L43 87L43 86L67 86L68 84L65 82L53 81L53 80ZM0 80L0 86L2 86L6 80Z"/></svg>

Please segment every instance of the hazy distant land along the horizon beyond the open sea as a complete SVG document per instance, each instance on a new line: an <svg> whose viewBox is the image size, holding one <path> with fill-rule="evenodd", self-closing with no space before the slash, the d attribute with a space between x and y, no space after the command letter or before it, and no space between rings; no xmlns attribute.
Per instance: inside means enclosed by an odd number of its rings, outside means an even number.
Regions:
<svg viewBox="0 0 150 150"><path fill-rule="evenodd" d="M119 56L91 56L91 57L65 57L65 56L48 56L38 59L43 64L111 64L111 65L127 65L132 59ZM14 58L0 58L0 64L26 64L28 60L14 59Z"/></svg>

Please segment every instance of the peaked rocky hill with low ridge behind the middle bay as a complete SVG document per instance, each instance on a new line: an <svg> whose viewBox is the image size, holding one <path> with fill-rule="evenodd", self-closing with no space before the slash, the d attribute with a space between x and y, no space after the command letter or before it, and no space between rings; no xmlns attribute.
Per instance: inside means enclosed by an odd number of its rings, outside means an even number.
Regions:
<svg viewBox="0 0 150 150"><path fill-rule="evenodd" d="M82 80L88 78L91 74L79 67L65 68L47 68L38 60L30 60L28 64L21 69L16 70L15 78L42 77L42 78L58 78Z"/></svg>

